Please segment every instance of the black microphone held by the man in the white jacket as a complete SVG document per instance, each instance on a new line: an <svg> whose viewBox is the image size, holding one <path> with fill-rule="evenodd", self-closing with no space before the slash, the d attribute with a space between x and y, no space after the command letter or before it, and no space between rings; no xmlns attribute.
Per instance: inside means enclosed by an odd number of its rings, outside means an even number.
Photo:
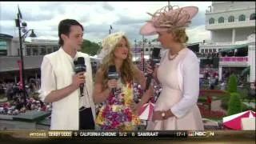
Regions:
<svg viewBox="0 0 256 144"><path fill-rule="evenodd" d="M78 57L78 61L74 61L74 72L78 74L82 71L86 72L85 58ZM84 83L80 83L79 87L80 87L80 94L81 94L80 96L82 97Z"/></svg>

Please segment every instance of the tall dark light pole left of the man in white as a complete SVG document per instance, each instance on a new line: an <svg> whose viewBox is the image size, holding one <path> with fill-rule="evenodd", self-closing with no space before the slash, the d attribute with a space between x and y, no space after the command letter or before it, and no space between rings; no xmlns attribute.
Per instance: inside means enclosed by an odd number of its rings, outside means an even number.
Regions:
<svg viewBox="0 0 256 144"><path fill-rule="evenodd" d="M21 86L22 86L22 96L23 96L23 106L26 108L26 87L25 87L25 80L24 80L24 60L23 60L23 50L22 50L22 38L26 38L26 34L30 30L27 30L25 34L22 35L22 28L26 27L26 22L22 22L22 26L20 25L20 13L17 14L17 19L15 19L16 26L18 27L18 38L19 38L19 51L20 51L20 58L21 58L21 67L22 67L22 78L21 78ZM30 37L36 37L34 34L34 30L32 30L32 33L30 34Z"/></svg>

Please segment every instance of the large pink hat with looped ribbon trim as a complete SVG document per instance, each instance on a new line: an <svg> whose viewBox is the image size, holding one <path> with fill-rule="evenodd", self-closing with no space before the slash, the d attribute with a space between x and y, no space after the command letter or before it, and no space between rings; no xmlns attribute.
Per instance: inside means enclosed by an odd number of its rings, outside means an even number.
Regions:
<svg viewBox="0 0 256 144"><path fill-rule="evenodd" d="M175 9L174 9L175 8ZM164 6L157 10L150 21L147 21L140 30L142 35L154 35L158 31L174 30L190 25L191 19L198 13L198 7Z"/></svg>

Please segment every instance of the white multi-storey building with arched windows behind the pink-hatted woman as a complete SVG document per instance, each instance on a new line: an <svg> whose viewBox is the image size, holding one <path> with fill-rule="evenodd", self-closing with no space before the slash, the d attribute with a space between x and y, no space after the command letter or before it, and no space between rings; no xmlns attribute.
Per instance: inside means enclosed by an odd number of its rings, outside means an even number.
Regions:
<svg viewBox="0 0 256 144"><path fill-rule="evenodd" d="M255 81L255 18L255 2L212 2L206 10L211 40L201 43L199 51L219 54L219 80L223 70L250 66L247 81Z"/></svg>

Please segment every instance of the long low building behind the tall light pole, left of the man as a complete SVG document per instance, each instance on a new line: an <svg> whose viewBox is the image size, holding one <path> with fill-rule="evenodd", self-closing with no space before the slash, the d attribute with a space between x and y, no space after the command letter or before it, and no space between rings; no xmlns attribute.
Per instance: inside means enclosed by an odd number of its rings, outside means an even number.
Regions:
<svg viewBox="0 0 256 144"><path fill-rule="evenodd" d="M19 39L1 38L0 43L2 43L2 49L6 50L6 53L0 56L0 82L17 83L19 81L18 61L20 60ZM42 58L45 54L58 50L58 41L31 38L30 42L22 42L22 50L25 82L28 82L30 78L40 78Z"/></svg>

